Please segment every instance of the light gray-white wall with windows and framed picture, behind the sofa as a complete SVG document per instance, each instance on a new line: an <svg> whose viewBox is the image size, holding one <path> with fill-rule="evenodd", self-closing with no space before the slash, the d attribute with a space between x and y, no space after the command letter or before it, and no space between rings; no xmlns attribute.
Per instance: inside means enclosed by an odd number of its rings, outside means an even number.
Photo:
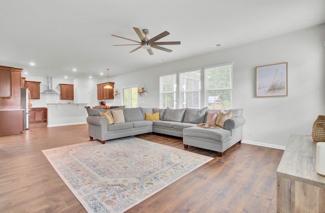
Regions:
<svg viewBox="0 0 325 213"><path fill-rule="evenodd" d="M285 146L291 133L311 134L318 115L325 114L325 24L166 63L131 74L110 77L116 88L147 86L141 107L159 107L159 75L233 62L233 108L243 108L243 139L248 143ZM173 53L172 53L173 54ZM288 62L288 96L255 97L255 67Z"/></svg>

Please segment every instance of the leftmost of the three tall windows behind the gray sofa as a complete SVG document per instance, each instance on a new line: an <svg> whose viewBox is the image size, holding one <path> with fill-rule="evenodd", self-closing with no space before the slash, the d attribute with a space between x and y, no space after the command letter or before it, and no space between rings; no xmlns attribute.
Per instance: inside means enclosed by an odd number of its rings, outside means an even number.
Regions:
<svg viewBox="0 0 325 213"><path fill-rule="evenodd" d="M160 77L160 108L176 107L176 74Z"/></svg>

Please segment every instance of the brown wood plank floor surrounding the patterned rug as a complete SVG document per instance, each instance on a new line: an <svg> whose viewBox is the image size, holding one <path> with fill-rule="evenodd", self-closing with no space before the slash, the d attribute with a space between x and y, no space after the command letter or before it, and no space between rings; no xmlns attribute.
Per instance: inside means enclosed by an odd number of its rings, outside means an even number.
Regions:
<svg viewBox="0 0 325 213"><path fill-rule="evenodd" d="M87 128L38 123L22 134L0 137L0 212L86 212L42 150L89 141ZM181 138L138 137L184 149ZM236 144L223 157L187 150L214 159L127 212L276 212L282 150Z"/></svg>

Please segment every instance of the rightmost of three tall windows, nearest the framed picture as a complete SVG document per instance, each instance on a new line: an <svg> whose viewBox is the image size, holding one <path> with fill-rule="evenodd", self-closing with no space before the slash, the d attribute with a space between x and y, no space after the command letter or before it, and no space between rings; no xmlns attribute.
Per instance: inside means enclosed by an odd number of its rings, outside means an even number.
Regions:
<svg viewBox="0 0 325 213"><path fill-rule="evenodd" d="M233 64L221 64L204 68L205 103L208 109L232 108Z"/></svg>

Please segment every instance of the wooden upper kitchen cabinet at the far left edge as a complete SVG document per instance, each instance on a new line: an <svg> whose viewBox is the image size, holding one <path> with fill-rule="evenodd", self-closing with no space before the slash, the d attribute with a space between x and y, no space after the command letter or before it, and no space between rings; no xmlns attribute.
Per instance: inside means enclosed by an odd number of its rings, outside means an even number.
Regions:
<svg viewBox="0 0 325 213"><path fill-rule="evenodd" d="M13 67L0 66L0 97L11 97Z"/></svg>

